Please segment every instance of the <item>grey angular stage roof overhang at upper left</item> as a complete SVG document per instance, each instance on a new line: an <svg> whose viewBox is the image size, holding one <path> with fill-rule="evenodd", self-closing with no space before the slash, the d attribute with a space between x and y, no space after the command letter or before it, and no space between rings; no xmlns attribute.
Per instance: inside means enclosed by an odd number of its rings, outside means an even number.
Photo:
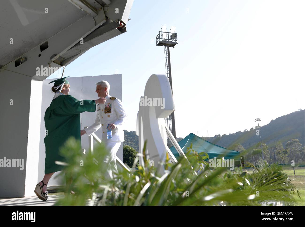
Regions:
<svg viewBox="0 0 305 227"><path fill-rule="evenodd" d="M126 32L133 0L9 0L0 7L0 72L44 80L37 67L68 65ZM83 44L80 43L83 39Z"/></svg>

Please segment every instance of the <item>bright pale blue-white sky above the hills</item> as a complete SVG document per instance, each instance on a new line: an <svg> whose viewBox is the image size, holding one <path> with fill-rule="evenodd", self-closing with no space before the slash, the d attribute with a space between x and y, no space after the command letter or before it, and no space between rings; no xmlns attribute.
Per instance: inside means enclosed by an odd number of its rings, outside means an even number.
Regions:
<svg viewBox="0 0 305 227"><path fill-rule="evenodd" d="M127 32L88 50L65 76L122 74L125 129L136 131L147 79L165 74L155 37L175 26L177 137L249 130L255 118L263 125L305 108L304 8L304 0L135 0Z"/></svg>

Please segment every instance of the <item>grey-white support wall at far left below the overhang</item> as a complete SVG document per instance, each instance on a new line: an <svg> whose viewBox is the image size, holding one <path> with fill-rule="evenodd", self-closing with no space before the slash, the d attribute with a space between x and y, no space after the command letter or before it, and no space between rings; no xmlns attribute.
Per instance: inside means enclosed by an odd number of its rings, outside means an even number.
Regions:
<svg viewBox="0 0 305 227"><path fill-rule="evenodd" d="M37 183L26 177L26 173L32 178L37 175L35 162L39 146L37 132L40 128L42 82L3 69L0 78L0 159L24 161L23 169L0 168L0 197L23 197L25 190L34 191ZM10 100L13 100L13 105L10 105Z"/></svg>

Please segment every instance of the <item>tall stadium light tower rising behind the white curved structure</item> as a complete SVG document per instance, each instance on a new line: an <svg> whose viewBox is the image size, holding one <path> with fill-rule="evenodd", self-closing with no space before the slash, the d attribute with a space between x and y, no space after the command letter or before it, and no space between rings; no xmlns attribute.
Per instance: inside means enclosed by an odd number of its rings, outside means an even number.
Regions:
<svg viewBox="0 0 305 227"><path fill-rule="evenodd" d="M176 27L171 27L170 32L166 31L166 26L161 27L161 31L159 31L159 34L156 36L156 45L157 46L164 46L164 55L165 55L165 70L167 78L170 82L170 88L173 93L173 84L171 79L171 69L170 69L170 47L175 47L175 45L178 44L177 41L177 33ZM173 95L174 97L174 95ZM173 134L174 138L176 139L176 126L175 126L175 113L171 113L170 116L165 118L167 127L170 129L170 132ZM168 140L167 140L167 143Z"/></svg>

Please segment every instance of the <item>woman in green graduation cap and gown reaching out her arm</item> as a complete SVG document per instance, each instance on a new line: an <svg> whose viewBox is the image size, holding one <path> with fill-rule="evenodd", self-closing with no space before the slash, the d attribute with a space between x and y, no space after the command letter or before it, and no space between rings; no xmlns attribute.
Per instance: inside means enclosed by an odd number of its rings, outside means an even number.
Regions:
<svg viewBox="0 0 305 227"><path fill-rule="evenodd" d="M34 192L39 199L46 201L45 192L49 179L54 172L63 170L64 166L55 164L55 161L65 162L65 158L59 153L60 147L66 140L73 136L81 140L80 113L95 112L96 104L103 104L106 99L79 101L69 95L70 84L66 77L54 80L52 91L55 93L50 106L45 111L45 176L39 182ZM68 183L68 182L67 182Z"/></svg>

